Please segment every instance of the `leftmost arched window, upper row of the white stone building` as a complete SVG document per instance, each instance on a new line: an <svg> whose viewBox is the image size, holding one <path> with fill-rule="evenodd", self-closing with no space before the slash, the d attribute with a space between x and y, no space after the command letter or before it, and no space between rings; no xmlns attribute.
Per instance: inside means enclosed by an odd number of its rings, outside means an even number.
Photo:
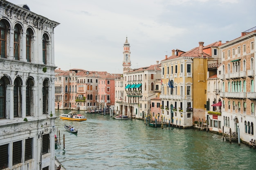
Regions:
<svg viewBox="0 0 256 170"><path fill-rule="evenodd" d="M0 21L0 56L1 58L6 58L6 33L7 33L7 26L3 22Z"/></svg>

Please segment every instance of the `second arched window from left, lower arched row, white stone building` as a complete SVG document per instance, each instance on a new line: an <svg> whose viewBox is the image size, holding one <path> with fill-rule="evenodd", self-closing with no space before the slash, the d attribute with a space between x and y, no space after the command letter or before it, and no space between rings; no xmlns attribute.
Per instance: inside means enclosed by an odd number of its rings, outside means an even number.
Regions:
<svg viewBox="0 0 256 170"><path fill-rule="evenodd" d="M21 97L21 85L22 81L18 77L14 81L14 87L13 87L13 116L14 117L21 117L21 103L22 103L22 97Z"/></svg>

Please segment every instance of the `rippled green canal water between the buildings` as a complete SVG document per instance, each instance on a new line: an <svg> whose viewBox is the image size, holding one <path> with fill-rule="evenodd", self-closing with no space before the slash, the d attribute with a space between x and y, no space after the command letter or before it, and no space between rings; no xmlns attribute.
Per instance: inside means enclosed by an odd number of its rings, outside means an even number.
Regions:
<svg viewBox="0 0 256 170"><path fill-rule="evenodd" d="M56 116L68 112L56 110ZM244 170L256 166L256 150L222 141L221 135L153 128L144 120L115 120L99 113L80 114L88 120L56 119L61 145L55 156L67 170ZM78 129L77 135L65 131L64 124Z"/></svg>

